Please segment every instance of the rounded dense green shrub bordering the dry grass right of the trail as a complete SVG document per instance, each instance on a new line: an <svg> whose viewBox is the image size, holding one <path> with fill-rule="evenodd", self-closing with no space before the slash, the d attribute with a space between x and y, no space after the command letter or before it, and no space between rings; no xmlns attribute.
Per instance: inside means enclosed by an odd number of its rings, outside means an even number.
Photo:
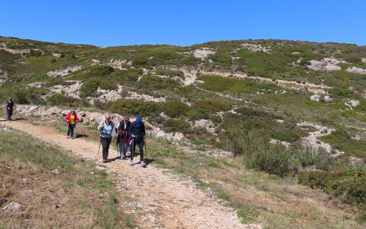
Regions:
<svg viewBox="0 0 366 229"><path fill-rule="evenodd" d="M281 144L271 144L268 148L253 154L254 168L280 177L290 172L290 161L290 152Z"/></svg>

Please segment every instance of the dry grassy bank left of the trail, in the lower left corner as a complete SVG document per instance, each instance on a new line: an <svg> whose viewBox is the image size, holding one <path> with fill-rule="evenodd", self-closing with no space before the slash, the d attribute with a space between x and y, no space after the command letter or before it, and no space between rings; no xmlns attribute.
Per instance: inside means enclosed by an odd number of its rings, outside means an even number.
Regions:
<svg viewBox="0 0 366 229"><path fill-rule="evenodd" d="M0 207L11 202L24 211L0 211L0 228L124 228L132 225L117 203L119 193L104 171L22 132L0 131ZM22 147L14 147L14 141ZM42 154L52 154L45 160ZM51 172L57 168L64 174ZM102 193L103 196L99 196Z"/></svg>

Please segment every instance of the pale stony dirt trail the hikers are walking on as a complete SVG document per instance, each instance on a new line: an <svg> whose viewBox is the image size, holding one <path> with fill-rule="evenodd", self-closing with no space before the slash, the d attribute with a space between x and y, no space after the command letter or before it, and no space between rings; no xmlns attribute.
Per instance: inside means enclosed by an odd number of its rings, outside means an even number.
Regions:
<svg viewBox="0 0 366 229"><path fill-rule="evenodd" d="M252 228L241 224L234 210L217 203L213 196L195 189L193 181L173 175L165 169L153 165L146 168L138 164L130 166L128 160L117 161L117 153L113 149L109 152L112 160L101 163L101 153L97 156L99 143L85 138L66 139L65 135L52 129L26 121L0 124L21 128L38 138L51 140L63 149L72 150L75 154L96 161L98 165L107 166L106 170L117 173L117 188L124 192L124 196L131 197L127 198L126 204L132 204L132 207L126 212L135 213L133 219L143 228ZM135 162L138 157L135 157Z"/></svg>

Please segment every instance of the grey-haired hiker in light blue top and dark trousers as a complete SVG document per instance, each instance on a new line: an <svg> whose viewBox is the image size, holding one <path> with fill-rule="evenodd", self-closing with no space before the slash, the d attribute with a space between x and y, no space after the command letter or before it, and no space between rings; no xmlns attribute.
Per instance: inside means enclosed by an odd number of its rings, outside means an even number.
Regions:
<svg viewBox="0 0 366 229"><path fill-rule="evenodd" d="M103 162L107 162L108 158L108 150L109 145L112 141L112 131L115 131L116 127L114 123L111 121L111 115L105 115L105 120L101 121L98 126L98 131L102 130L100 132L100 141L103 146Z"/></svg>

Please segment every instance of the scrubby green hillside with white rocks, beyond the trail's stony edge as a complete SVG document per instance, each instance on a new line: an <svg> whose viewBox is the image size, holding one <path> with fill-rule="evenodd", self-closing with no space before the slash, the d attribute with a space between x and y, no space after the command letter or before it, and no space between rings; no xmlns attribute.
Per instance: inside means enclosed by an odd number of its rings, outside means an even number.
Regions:
<svg viewBox="0 0 366 229"><path fill-rule="evenodd" d="M0 37L0 46L4 101L143 116L168 135L223 149L230 131L259 128L286 146L311 136L329 152L365 156L355 147L365 136L365 46L238 40L96 47L14 37ZM346 138L335 143L326 129Z"/></svg>

